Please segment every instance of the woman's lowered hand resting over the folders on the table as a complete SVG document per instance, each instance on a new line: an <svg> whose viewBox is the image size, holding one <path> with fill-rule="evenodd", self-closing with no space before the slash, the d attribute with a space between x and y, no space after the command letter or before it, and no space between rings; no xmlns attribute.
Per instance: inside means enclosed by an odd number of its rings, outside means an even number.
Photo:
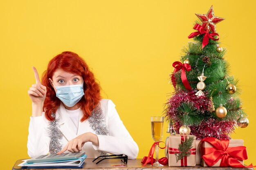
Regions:
<svg viewBox="0 0 256 170"><path fill-rule="evenodd" d="M92 142L94 145L99 146L99 140L97 135L91 132L88 132L88 133L83 133L82 135L79 135L76 138L67 142L66 146L57 154L62 154L66 150L72 153L79 152L80 150L82 150L82 147L85 144L85 142Z"/></svg>

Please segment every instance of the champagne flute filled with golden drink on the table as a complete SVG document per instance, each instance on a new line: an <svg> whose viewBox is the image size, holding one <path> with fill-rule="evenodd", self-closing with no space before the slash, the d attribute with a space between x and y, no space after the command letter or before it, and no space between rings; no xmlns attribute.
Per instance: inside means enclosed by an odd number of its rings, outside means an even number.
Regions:
<svg viewBox="0 0 256 170"><path fill-rule="evenodd" d="M151 131L152 138L155 142L160 142L163 137L163 126L164 126L164 117L163 116L151 116ZM153 166L163 166L158 162L158 150L159 144L155 145L155 163Z"/></svg>

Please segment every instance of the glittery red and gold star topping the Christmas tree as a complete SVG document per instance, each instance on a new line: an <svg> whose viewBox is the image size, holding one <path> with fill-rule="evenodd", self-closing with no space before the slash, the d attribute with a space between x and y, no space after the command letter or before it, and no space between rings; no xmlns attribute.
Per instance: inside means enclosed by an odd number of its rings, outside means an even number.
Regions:
<svg viewBox="0 0 256 170"><path fill-rule="evenodd" d="M196 13L195 15L202 21L202 27L208 29L212 33L215 33L216 31L216 24L225 20L225 18L214 16L213 6L211 6L206 14Z"/></svg>

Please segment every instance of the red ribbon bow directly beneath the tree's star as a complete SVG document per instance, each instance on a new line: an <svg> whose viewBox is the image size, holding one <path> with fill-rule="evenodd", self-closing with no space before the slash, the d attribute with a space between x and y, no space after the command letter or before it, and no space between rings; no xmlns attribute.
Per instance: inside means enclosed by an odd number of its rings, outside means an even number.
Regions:
<svg viewBox="0 0 256 170"><path fill-rule="evenodd" d="M209 38L212 39L213 41L219 40L219 35L218 33L209 33L209 30L205 30L200 24L195 24L194 29L197 30L197 32L191 33L189 35L189 38L196 37L200 34L204 34L203 42L202 42L202 49L204 46L206 46L209 43ZM215 39L213 36L217 35L218 38Z"/></svg>

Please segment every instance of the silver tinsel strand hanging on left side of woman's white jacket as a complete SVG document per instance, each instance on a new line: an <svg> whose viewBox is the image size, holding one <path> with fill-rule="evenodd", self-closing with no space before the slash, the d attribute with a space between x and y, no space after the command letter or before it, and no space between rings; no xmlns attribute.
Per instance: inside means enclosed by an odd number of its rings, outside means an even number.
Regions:
<svg viewBox="0 0 256 170"><path fill-rule="evenodd" d="M49 153L56 154L62 149L61 139L63 137L62 132L58 129L59 118L55 119L55 114L52 113L53 121L49 122L48 133L50 137Z"/></svg>

